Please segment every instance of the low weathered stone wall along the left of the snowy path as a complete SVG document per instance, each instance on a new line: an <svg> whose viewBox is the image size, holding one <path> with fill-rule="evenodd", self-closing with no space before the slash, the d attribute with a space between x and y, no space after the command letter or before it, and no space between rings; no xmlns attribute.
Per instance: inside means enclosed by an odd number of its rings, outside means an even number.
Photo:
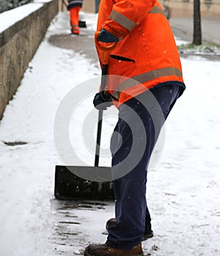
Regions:
<svg viewBox="0 0 220 256"><path fill-rule="evenodd" d="M42 2L39 9L0 34L0 119L58 12L58 0Z"/></svg>

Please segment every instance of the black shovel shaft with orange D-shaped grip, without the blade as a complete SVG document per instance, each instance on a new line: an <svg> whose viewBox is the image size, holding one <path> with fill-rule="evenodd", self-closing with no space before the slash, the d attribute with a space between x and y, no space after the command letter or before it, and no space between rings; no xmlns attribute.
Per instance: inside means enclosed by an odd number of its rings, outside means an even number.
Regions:
<svg viewBox="0 0 220 256"><path fill-rule="evenodd" d="M106 78L108 74L108 64L109 64L109 54L112 51L117 43L111 43L108 46L101 45L97 38L100 32L95 32L95 46L103 52L103 56L101 59L102 62L102 77L101 77L101 84L100 90L101 92L105 92L106 89ZM99 162L99 155L100 155L100 138L101 138L101 131L103 125L103 110L98 111L98 128L97 128L97 139L96 139L96 147L95 147L95 167L98 167Z"/></svg>

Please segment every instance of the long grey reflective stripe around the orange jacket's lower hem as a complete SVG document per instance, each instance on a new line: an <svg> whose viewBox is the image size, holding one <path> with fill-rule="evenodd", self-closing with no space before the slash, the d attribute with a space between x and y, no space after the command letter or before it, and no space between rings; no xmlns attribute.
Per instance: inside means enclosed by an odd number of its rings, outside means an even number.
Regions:
<svg viewBox="0 0 220 256"><path fill-rule="evenodd" d="M182 77L183 73L178 68L175 68L175 67L164 67L164 68L160 68L158 70L153 70L153 71L149 71L146 73L142 73L140 75L128 78L127 80L120 83L119 86L117 87L117 89L115 89L115 91L111 95L113 95L114 98L119 99L120 94L123 90L133 87L137 84L143 84L144 82L151 81L155 78L159 78L162 76Z"/></svg>

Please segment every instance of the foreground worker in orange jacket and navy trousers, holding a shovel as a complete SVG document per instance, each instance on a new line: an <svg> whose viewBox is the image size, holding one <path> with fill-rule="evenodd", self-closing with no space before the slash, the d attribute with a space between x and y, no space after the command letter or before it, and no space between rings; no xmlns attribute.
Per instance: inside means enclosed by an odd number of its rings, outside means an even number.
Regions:
<svg viewBox="0 0 220 256"><path fill-rule="evenodd" d="M101 43L117 42L109 55L106 92L93 101L96 109L112 104L119 109L110 145L115 218L107 222L106 243L90 244L84 255L143 255L142 241L153 236L147 167L161 128L186 88L180 56L158 0L102 0L97 29Z"/></svg>

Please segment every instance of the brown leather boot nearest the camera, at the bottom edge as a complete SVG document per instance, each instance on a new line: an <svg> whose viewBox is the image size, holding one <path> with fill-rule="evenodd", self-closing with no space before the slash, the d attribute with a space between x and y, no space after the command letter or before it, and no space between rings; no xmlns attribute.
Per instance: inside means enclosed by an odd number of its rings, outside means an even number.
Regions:
<svg viewBox="0 0 220 256"><path fill-rule="evenodd" d="M89 244L84 251L85 256L144 256L142 243L133 246L130 250L115 249L106 244Z"/></svg>

